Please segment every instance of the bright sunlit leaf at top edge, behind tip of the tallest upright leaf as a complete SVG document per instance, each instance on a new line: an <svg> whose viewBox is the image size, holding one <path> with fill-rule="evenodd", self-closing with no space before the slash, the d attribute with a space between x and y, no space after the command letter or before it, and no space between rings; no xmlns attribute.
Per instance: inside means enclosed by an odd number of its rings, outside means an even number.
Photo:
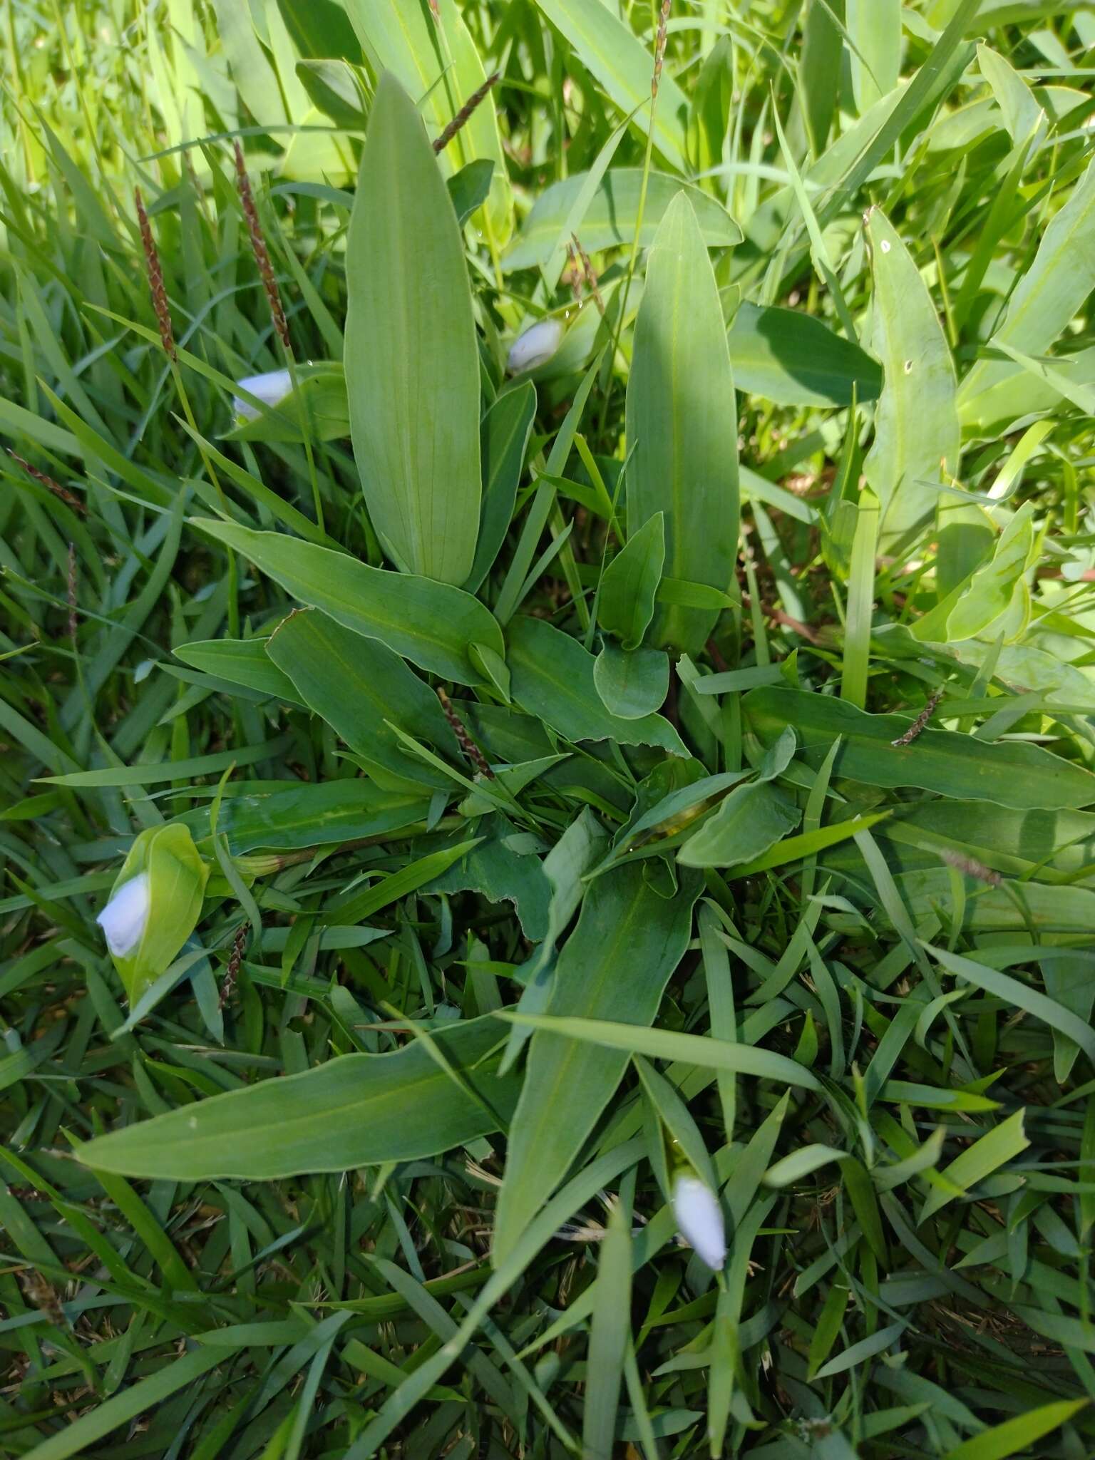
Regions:
<svg viewBox="0 0 1095 1460"><path fill-rule="evenodd" d="M437 7L429 9L419 0L346 0L345 9L372 70L378 76L391 72L419 102L431 134L441 136L486 80L461 7L456 0L437 0ZM514 203L491 93L438 158L442 174L467 166L473 159L493 162L486 213L495 244L501 245L512 229Z"/></svg>

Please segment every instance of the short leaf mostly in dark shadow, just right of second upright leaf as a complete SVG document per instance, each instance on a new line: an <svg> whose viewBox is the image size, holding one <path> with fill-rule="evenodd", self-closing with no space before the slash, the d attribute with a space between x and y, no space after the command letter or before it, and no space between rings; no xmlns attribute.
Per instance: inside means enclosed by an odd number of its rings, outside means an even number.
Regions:
<svg viewBox="0 0 1095 1460"><path fill-rule="evenodd" d="M851 340L797 310L742 301L730 324L734 385L781 406L876 400L882 368Z"/></svg>

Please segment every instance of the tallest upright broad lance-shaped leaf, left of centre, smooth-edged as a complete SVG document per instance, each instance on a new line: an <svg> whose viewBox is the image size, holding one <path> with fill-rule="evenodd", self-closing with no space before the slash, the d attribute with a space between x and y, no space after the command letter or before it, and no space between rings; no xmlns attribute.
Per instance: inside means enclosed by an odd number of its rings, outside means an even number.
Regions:
<svg viewBox="0 0 1095 1460"><path fill-rule="evenodd" d="M346 390L369 517L406 572L464 583L479 534L479 350L453 204L384 73L346 239Z"/></svg>

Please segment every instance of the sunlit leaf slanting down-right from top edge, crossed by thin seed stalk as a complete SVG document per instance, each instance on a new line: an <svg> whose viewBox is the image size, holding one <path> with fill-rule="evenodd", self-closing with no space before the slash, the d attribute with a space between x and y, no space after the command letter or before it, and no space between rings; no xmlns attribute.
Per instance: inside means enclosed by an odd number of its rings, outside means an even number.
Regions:
<svg viewBox="0 0 1095 1460"><path fill-rule="evenodd" d="M540 10L574 47L583 66L635 124L650 130L650 79L654 57L632 31L600 0L536 0ZM654 147L673 166L688 166L685 115L688 102L666 72L658 88L653 126Z"/></svg>

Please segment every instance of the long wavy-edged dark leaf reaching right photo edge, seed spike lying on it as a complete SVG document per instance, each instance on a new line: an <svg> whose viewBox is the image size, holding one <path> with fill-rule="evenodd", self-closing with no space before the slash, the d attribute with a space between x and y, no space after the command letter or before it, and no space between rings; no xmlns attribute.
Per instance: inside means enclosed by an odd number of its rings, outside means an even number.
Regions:
<svg viewBox="0 0 1095 1460"><path fill-rule="evenodd" d="M743 708L765 746L793 726L800 755L813 769L840 737L832 774L867 785L917 785L1018 810L1095 806L1095 775L1037 745L977 740L955 730L923 730L911 745L894 745L912 723L910 717L870 715L847 699L802 689L753 689Z"/></svg>

